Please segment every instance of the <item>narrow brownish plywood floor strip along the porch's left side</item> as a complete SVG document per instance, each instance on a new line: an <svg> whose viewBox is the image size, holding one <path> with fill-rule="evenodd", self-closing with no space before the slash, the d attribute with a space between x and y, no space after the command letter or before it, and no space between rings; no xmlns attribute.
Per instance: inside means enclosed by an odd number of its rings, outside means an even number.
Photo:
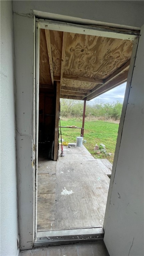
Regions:
<svg viewBox="0 0 144 256"><path fill-rule="evenodd" d="M37 231L54 230L56 162L39 157L37 180Z"/></svg>

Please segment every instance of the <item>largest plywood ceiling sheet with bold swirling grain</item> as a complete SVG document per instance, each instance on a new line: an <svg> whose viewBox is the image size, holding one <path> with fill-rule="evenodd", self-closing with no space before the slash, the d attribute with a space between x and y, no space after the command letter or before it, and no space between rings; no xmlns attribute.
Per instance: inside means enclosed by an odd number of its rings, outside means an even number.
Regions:
<svg viewBox="0 0 144 256"><path fill-rule="evenodd" d="M64 74L105 79L126 63L133 42L68 33Z"/></svg>

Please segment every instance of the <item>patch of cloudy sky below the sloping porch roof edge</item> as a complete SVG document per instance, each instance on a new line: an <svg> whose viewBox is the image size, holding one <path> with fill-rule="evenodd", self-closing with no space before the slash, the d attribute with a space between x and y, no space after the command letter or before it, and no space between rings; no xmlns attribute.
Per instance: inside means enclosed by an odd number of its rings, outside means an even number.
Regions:
<svg viewBox="0 0 144 256"><path fill-rule="evenodd" d="M96 97L95 99L90 100L89 103L92 104L96 100L98 100L100 102L104 102L104 103L107 103L107 102L113 103L116 101L120 101L121 103L123 103L125 88L126 88L126 83L123 83L123 84L109 90L108 92L101 94L100 96Z"/></svg>

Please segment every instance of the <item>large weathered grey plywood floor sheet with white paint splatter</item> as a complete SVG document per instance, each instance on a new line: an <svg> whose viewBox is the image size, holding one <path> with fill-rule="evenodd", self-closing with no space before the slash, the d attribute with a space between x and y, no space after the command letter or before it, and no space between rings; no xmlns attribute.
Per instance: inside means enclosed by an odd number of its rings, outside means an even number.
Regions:
<svg viewBox="0 0 144 256"><path fill-rule="evenodd" d="M107 175L97 170L96 161L61 161L57 167L55 228L102 226ZM65 189L67 195L63 195Z"/></svg>

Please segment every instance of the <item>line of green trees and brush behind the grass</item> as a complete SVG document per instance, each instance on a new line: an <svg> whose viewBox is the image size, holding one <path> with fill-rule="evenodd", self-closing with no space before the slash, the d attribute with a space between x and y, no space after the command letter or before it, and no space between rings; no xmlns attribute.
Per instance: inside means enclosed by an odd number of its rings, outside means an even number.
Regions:
<svg viewBox="0 0 144 256"><path fill-rule="evenodd" d="M63 118L81 118L83 116L84 102L80 100L61 99L60 115ZM85 117L102 118L102 120L120 120L122 103L104 103L96 100L93 103L86 102Z"/></svg>

